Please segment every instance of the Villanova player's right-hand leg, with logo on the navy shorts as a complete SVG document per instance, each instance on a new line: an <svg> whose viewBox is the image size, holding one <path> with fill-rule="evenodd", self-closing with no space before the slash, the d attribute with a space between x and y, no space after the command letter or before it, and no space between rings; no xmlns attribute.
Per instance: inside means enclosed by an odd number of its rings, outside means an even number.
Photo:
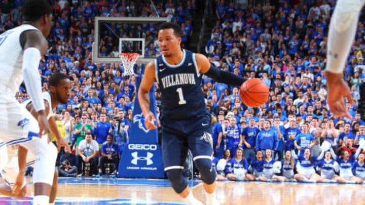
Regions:
<svg viewBox="0 0 365 205"><path fill-rule="evenodd" d="M199 126L201 125L201 122ZM188 138L189 149L198 168L205 189L206 203L218 204L215 196L215 171L211 167L212 137L210 129L203 127Z"/></svg>

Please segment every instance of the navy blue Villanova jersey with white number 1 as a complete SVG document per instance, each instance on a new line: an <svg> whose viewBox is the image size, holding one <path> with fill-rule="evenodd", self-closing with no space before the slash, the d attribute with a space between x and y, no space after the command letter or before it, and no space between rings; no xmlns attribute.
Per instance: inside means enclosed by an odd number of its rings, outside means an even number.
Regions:
<svg viewBox="0 0 365 205"><path fill-rule="evenodd" d="M163 55L155 60L156 78L162 94L162 115L171 119L189 119L208 113L195 54L183 51L184 57L178 65L170 65Z"/></svg>

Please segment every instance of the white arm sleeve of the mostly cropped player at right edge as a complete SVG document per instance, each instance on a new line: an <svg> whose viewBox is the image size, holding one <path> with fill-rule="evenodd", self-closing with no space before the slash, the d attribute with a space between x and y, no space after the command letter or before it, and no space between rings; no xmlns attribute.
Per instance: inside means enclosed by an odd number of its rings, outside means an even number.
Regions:
<svg viewBox="0 0 365 205"><path fill-rule="evenodd" d="M355 37L358 17L365 1L339 0L331 18L326 69L342 72Z"/></svg>

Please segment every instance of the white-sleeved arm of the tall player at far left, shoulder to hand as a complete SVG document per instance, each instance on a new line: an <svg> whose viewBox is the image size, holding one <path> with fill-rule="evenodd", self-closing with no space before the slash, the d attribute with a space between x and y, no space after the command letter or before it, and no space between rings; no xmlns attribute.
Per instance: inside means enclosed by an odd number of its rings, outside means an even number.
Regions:
<svg viewBox="0 0 365 205"><path fill-rule="evenodd" d="M42 98L41 76L38 72L41 55L47 51L48 43L43 34L38 30L24 31L20 35L21 46L23 47L24 83L36 112L38 112L38 122L42 131L51 135L51 130L47 121L47 114Z"/></svg>

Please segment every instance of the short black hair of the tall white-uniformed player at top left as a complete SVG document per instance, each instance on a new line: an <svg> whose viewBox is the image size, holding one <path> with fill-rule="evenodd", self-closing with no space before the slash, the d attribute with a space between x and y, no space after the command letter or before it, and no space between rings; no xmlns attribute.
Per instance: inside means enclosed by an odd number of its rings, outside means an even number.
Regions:
<svg viewBox="0 0 365 205"><path fill-rule="evenodd" d="M23 5L24 21L37 21L42 16L52 13L47 0L26 0Z"/></svg>

